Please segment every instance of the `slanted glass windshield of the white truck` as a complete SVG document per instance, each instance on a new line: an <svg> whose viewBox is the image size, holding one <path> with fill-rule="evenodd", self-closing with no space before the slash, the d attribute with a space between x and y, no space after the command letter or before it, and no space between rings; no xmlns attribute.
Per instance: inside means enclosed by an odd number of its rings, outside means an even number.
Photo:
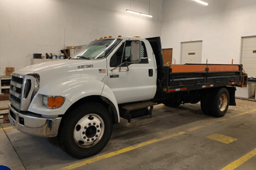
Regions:
<svg viewBox="0 0 256 170"><path fill-rule="evenodd" d="M102 59L105 58L121 39L99 39L90 42L78 53L74 53L71 59Z"/></svg>

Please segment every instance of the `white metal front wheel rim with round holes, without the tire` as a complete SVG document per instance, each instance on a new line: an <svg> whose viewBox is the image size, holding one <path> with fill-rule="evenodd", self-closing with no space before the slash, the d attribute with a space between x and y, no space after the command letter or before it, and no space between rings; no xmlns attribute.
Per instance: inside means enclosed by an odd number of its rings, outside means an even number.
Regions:
<svg viewBox="0 0 256 170"><path fill-rule="evenodd" d="M97 144L104 134L105 124L97 114L81 117L74 127L74 141L82 148Z"/></svg>

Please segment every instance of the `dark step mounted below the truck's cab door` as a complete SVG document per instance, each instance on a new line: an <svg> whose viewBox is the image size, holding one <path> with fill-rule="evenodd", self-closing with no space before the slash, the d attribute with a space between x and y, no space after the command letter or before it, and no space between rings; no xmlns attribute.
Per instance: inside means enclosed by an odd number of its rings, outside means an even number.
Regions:
<svg viewBox="0 0 256 170"><path fill-rule="evenodd" d="M128 120L128 123L130 123L130 120L133 118L143 117L146 115L149 115L150 117L152 117L152 110L154 105L157 105L157 104L150 101L146 101L138 104L125 105L122 107L124 111L120 113L120 117L123 117L126 120ZM150 109L148 109L148 107L150 107Z"/></svg>

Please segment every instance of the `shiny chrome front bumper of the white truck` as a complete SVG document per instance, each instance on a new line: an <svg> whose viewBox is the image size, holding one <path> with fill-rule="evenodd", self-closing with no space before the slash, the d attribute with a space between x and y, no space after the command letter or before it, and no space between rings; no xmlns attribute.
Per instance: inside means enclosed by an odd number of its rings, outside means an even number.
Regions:
<svg viewBox="0 0 256 170"><path fill-rule="evenodd" d="M9 104L9 119L11 124L25 134L41 137L55 137L59 130L62 117L43 118L21 114Z"/></svg>

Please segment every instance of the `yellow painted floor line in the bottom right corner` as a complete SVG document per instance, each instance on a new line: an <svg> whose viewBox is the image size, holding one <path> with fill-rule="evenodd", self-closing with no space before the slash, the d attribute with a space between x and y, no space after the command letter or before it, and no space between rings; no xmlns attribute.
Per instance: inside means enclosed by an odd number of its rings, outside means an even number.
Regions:
<svg viewBox="0 0 256 170"><path fill-rule="evenodd" d="M249 153L242 156L241 158L238 158L236 161L234 161L234 162L230 163L229 165L225 166L221 170L233 170L233 169L239 167L240 165L244 164L244 162L247 162L249 159L251 159L255 155L256 155L256 148L254 148L254 150L250 151Z"/></svg>

